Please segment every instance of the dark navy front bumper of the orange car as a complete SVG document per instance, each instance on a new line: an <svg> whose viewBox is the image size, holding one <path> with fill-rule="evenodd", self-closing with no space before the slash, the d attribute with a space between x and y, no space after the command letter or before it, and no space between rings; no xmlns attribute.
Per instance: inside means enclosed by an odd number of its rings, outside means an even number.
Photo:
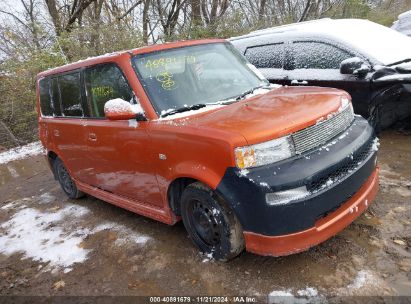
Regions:
<svg viewBox="0 0 411 304"><path fill-rule="evenodd" d="M376 170L373 139L372 127L356 117L343 134L325 147L249 169L247 174L229 168L216 190L239 218L247 248L254 250L255 246L249 245L251 236L286 237L314 229L319 221L352 202ZM333 182L329 184L329 180ZM309 196L283 205L266 202L267 193L301 186L307 186Z"/></svg>

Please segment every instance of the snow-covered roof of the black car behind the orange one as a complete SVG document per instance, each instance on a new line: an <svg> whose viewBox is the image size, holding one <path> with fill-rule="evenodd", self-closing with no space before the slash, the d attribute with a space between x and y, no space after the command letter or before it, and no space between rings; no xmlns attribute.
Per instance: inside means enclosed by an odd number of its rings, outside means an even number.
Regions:
<svg viewBox="0 0 411 304"><path fill-rule="evenodd" d="M244 52L250 46L296 39L324 40L344 46L379 65L390 65L411 58L409 37L364 19L319 19L293 23L254 31L229 40Z"/></svg>

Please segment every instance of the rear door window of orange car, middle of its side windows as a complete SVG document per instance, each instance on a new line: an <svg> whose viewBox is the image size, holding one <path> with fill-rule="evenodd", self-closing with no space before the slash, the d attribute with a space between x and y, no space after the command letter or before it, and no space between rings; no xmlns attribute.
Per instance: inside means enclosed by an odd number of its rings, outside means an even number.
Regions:
<svg viewBox="0 0 411 304"><path fill-rule="evenodd" d="M83 116L80 92L80 73L58 77L63 116Z"/></svg>

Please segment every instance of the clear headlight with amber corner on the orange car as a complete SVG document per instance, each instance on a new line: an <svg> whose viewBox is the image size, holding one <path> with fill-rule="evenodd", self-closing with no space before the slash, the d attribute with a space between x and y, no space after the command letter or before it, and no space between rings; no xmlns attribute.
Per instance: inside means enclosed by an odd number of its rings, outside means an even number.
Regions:
<svg viewBox="0 0 411 304"><path fill-rule="evenodd" d="M240 169L272 164L295 155L290 136L234 150L236 165Z"/></svg>

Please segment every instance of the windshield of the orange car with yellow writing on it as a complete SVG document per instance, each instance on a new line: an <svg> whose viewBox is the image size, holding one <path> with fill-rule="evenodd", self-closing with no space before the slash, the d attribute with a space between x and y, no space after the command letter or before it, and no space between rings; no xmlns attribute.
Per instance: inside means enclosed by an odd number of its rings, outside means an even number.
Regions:
<svg viewBox="0 0 411 304"><path fill-rule="evenodd" d="M268 84L229 43L136 55L133 66L159 115L218 104Z"/></svg>

